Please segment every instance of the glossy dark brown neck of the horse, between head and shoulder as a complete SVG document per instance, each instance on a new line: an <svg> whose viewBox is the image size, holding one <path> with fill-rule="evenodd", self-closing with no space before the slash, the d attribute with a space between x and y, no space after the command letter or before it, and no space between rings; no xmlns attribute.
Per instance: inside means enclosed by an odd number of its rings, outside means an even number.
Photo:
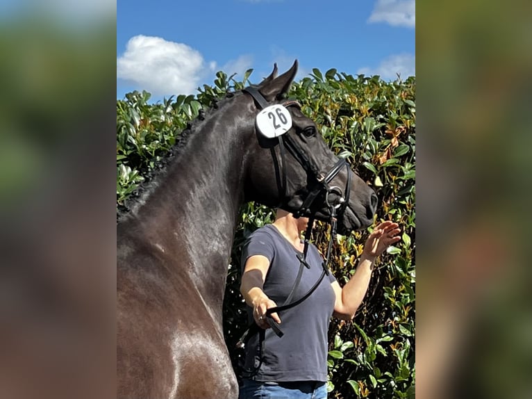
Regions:
<svg viewBox="0 0 532 399"><path fill-rule="evenodd" d="M177 248L199 292L222 306L238 209L243 200L244 139L234 120L201 122L138 217L159 245ZM185 253L183 253L185 252Z"/></svg>

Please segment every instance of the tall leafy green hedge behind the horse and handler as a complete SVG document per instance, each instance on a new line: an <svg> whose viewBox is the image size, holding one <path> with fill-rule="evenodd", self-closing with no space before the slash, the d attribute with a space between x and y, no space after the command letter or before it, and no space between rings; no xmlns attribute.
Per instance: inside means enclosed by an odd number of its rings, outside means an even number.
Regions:
<svg viewBox="0 0 532 399"><path fill-rule="evenodd" d="M179 95L149 104L149 93L131 92L117 101L117 210L138 195L176 137L203 109L228 92L247 86L217 73L213 86L197 95ZM376 263L367 296L353 322L333 319L329 331L331 398L413 398L415 387L415 78L382 81L379 76L351 76L313 70L294 83L302 111L313 118L333 151L379 197L376 220L393 220L402 240ZM228 266L224 331L233 364L242 355L235 343L246 325L239 292L240 247L251 231L272 222L271 209L244 204ZM331 269L340 285L354 272L367 231L338 236ZM326 252L328 226L321 223L313 240Z"/></svg>

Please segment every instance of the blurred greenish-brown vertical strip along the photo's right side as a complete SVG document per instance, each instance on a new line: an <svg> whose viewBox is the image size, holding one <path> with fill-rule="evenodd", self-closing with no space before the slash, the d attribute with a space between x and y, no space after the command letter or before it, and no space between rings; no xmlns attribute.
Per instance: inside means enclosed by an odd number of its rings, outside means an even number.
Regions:
<svg viewBox="0 0 532 399"><path fill-rule="evenodd" d="M417 4L419 398L531 398L532 4Z"/></svg>

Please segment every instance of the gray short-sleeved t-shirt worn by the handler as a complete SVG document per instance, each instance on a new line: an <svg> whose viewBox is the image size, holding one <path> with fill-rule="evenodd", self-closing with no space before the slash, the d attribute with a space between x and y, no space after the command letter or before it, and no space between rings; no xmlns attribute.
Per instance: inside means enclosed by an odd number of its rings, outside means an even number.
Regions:
<svg viewBox="0 0 532 399"><path fill-rule="evenodd" d="M270 261L263 291L278 306L285 303L294 286L299 271L297 254L301 252L286 240L273 225L257 229L249 236L242 251L242 268L249 257L263 255ZM301 282L294 292L294 302L303 297L322 275L322 256L315 245L308 247L307 263ZM284 335L279 338L271 328L265 332L263 362L260 364L258 334L246 345L245 368L260 368L253 380L270 382L322 381L327 380L327 332L333 314L335 294L331 282L332 273L325 276L316 290L304 302L279 314L279 327ZM252 309L248 307L251 323Z"/></svg>

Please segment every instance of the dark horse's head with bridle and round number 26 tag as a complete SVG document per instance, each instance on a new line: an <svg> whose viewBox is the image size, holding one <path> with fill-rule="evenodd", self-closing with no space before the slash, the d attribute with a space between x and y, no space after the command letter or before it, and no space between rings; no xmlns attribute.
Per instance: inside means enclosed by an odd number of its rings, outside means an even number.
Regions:
<svg viewBox="0 0 532 399"><path fill-rule="evenodd" d="M327 147L299 104L283 99L296 72L297 60L281 76L275 66L256 88L244 89L257 115L246 197L319 220L329 220L335 206L340 233L363 229L373 222L377 197Z"/></svg>

